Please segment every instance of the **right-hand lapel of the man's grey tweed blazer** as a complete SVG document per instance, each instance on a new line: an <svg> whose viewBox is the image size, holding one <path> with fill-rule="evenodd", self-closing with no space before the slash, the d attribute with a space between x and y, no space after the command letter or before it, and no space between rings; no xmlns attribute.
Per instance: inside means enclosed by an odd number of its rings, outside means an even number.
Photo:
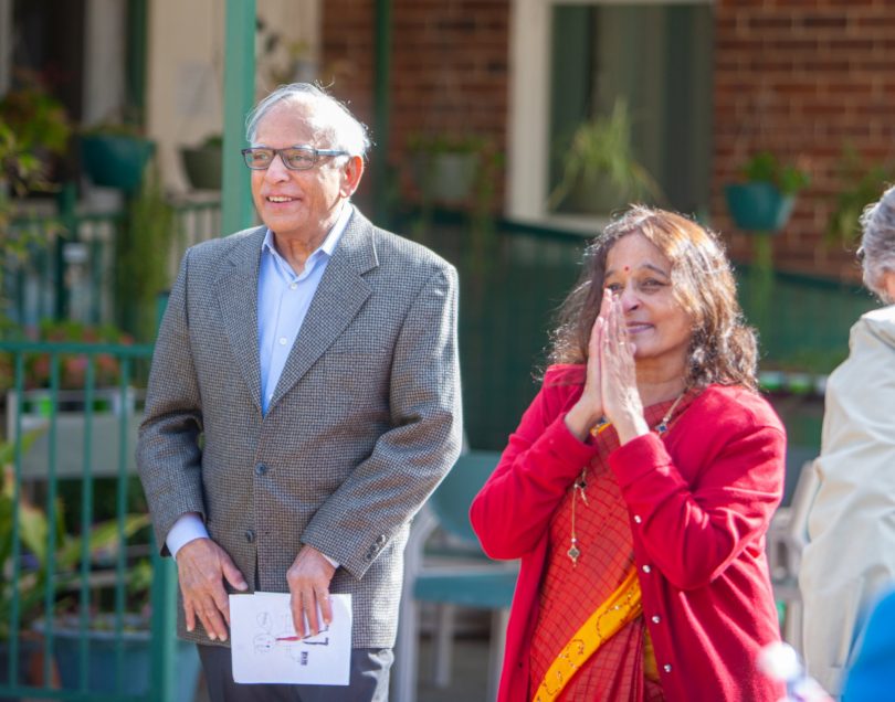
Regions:
<svg viewBox="0 0 895 702"><path fill-rule="evenodd" d="M355 209L310 301L268 412L355 318L371 292L362 276L377 265L373 226Z"/></svg>

